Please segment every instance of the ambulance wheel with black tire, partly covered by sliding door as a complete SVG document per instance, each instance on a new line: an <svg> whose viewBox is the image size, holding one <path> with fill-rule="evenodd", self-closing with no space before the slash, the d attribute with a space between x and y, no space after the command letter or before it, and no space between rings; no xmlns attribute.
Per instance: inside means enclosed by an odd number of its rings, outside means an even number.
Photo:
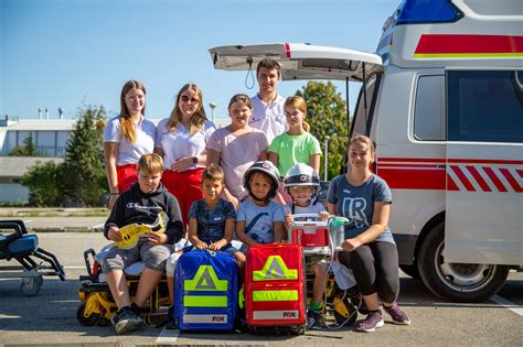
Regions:
<svg viewBox="0 0 523 347"><path fill-rule="evenodd" d="M453 302L482 302L505 283L510 267L495 264L446 263L444 221L424 239L417 254L424 284L436 296Z"/></svg>

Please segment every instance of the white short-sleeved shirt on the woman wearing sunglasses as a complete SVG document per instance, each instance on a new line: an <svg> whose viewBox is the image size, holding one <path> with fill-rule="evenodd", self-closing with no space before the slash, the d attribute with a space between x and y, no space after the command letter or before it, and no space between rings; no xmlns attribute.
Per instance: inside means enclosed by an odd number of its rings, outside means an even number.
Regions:
<svg viewBox="0 0 523 347"><path fill-rule="evenodd" d="M160 120L157 127L157 137L154 145L163 150L163 166L171 167L179 159L184 156L196 156L205 150L211 134L216 130L214 123L210 120L203 123L202 129L193 135L185 126L179 123L175 129L167 130L169 118ZM189 170L196 169L194 164Z"/></svg>

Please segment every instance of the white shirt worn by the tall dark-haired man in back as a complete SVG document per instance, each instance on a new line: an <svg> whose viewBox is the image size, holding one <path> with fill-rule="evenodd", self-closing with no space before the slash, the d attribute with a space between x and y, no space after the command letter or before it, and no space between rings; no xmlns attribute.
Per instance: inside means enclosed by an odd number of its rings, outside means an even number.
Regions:
<svg viewBox="0 0 523 347"><path fill-rule="evenodd" d="M278 94L273 102L265 105L258 95L255 95L250 101L253 101L253 116L248 124L262 130L267 137L267 141L271 143L274 138L284 133L287 128L284 109L285 98Z"/></svg>

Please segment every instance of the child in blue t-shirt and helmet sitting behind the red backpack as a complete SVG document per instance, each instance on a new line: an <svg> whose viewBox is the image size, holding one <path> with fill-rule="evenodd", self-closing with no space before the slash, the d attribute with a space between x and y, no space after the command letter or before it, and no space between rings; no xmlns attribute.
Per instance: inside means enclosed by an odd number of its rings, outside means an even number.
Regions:
<svg viewBox="0 0 523 347"><path fill-rule="evenodd" d="M255 162L245 173L244 186L250 198L239 205L236 237L244 243L241 251L256 243L284 240L284 212L273 202L279 186L279 172L269 161Z"/></svg>

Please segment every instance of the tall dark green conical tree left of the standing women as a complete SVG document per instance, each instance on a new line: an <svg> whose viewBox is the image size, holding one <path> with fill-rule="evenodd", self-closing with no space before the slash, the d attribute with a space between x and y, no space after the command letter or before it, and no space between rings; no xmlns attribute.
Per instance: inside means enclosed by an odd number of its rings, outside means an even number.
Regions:
<svg viewBox="0 0 523 347"><path fill-rule="evenodd" d="M103 106L78 109L78 120L65 148L65 195L73 202L99 206L107 193L103 124L107 112Z"/></svg>

